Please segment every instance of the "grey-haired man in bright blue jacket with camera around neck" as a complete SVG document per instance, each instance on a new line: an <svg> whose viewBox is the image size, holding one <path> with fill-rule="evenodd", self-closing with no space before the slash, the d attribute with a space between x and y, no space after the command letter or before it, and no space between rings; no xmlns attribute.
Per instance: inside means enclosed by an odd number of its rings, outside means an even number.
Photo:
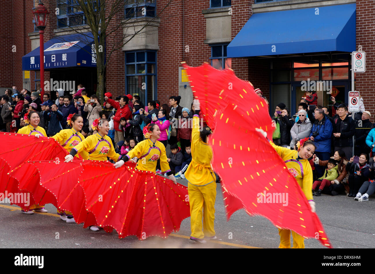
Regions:
<svg viewBox="0 0 375 274"><path fill-rule="evenodd" d="M332 123L324 115L324 110L317 108L315 110L315 121L312 124L310 140L315 142L317 148L315 154L320 160L328 160L331 154ZM324 174L324 166L315 165L315 170L319 177Z"/></svg>

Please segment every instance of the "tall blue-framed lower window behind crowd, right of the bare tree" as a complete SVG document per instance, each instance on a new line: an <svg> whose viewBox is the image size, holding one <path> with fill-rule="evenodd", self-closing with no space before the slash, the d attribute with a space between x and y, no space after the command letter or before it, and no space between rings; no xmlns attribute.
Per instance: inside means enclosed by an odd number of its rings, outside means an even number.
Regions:
<svg viewBox="0 0 375 274"><path fill-rule="evenodd" d="M125 54L126 94L138 95L147 105L156 99L156 52Z"/></svg>

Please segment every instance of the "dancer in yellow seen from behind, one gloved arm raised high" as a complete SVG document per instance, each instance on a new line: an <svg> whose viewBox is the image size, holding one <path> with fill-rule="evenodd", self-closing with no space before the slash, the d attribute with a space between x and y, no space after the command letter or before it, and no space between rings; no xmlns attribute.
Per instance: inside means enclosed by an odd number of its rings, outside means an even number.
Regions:
<svg viewBox="0 0 375 274"><path fill-rule="evenodd" d="M212 130L204 126L199 131L199 100L194 100L193 128L191 132L192 160L185 172L185 178L189 182L190 202L190 240L205 243L204 238L216 240L214 230L215 200L216 200L216 176L211 169L212 150L207 144L207 136ZM202 231L203 215L203 231Z"/></svg>

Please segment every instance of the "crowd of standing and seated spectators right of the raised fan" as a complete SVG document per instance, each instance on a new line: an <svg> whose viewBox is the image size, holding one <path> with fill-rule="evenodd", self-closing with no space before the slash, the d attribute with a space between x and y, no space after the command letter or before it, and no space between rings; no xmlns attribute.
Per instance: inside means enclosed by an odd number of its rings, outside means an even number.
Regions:
<svg viewBox="0 0 375 274"><path fill-rule="evenodd" d="M300 139L314 141L315 154L310 159L313 195L346 194L367 201L375 191L375 124L370 121L371 113L365 110L362 98L354 117L347 105L338 104L333 96L332 107L317 105L317 99L315 92L306 92L293 116L284 103L279 103L273 117L273 142L296 150Z"/></svg>

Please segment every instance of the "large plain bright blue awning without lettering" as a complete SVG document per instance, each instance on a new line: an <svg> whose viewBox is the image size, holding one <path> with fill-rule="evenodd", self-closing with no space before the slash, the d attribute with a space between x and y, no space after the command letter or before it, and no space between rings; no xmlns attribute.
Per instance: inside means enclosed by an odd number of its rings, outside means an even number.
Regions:
<svg viewBox="0 0 375 274"><path fill-rule="evenodd" d="M255 13L228 58L356 50L356 4Z"/></svg>

